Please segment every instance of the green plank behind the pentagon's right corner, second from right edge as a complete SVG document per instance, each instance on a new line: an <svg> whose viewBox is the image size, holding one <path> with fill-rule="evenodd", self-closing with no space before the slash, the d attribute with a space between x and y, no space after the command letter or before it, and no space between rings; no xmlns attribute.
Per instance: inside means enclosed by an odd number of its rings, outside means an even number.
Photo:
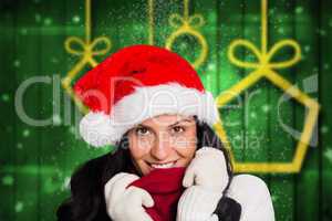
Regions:
<svg viewBox="0 0 332 221"><path fill-rule="evenodd" d="M318 1L299 1L294 8L295 38L301 43L303 60L297 65L297 82L299 87L311 97L318 96L318 74L320 64L319 38L319 4ZM295 106L294 120L297 128L303 128L305 117L303 107ZM297 220L320 220L320 149L314 131L312 145L308 148L302 170L295 177L295 202L294 208ZM303 210L303 208L305 208Z"/></svg>

